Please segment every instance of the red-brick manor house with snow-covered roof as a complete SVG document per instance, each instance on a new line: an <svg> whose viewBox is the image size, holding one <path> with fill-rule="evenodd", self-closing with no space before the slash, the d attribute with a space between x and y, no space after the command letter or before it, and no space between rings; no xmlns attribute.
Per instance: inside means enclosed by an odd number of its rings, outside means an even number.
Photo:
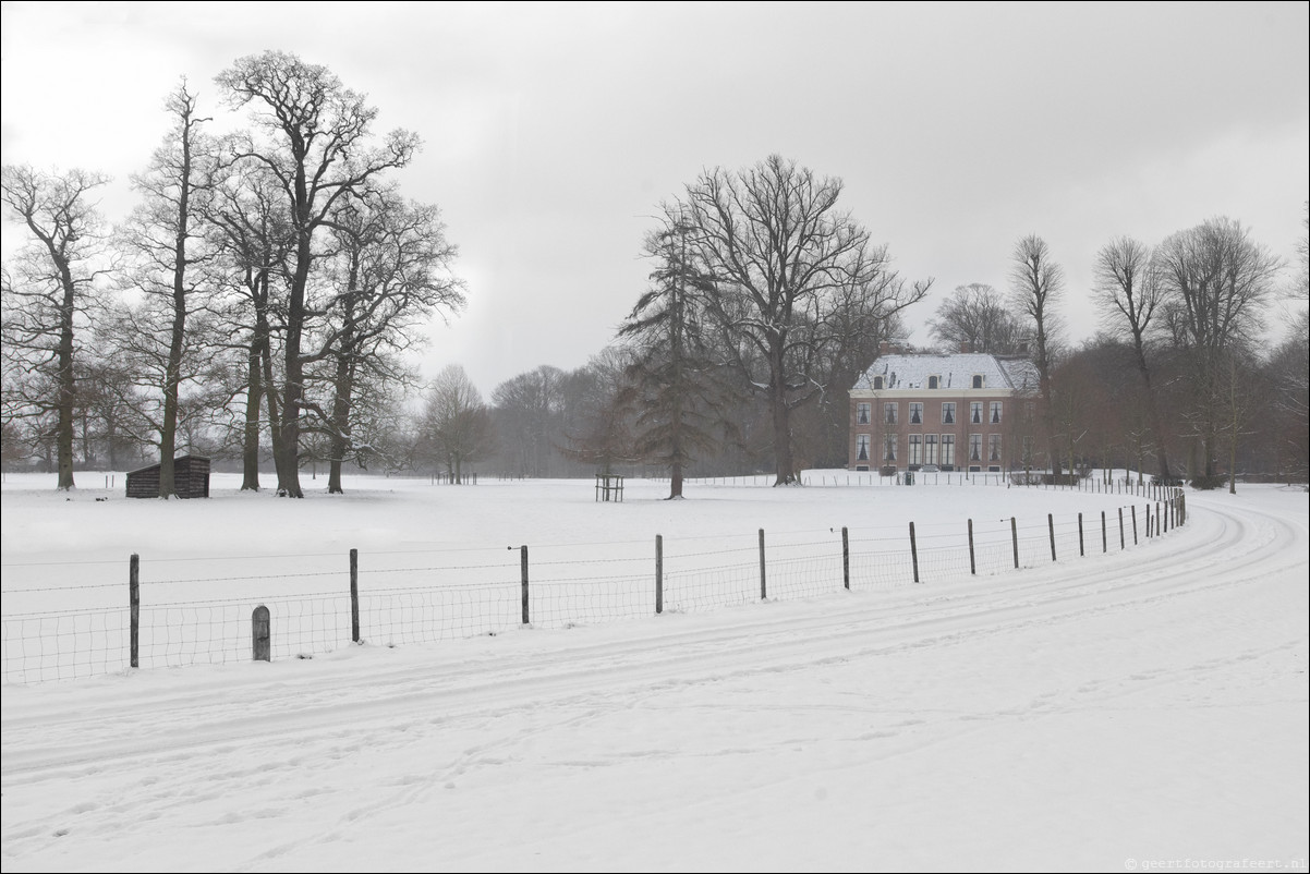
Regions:
<svg viewBox="0 0 1310 874"><path fill-rule="evenodd" d="M850 470L1031 466L1038 371L1026 356L882 352L850 389Z"/></svg>

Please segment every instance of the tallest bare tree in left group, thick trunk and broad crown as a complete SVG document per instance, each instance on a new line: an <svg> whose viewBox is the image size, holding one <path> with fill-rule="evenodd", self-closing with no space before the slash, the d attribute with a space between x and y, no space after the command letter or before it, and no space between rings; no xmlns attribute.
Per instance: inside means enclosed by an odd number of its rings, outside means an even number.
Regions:
<svg viewBox="0 0 1310 874"><path fill-rule="evenodd" d="M266 51L242 58L215 81L229 92L234 106L254 104L261 109L258 123L269 138L238 149L237 157L262 165L278 181L295 237L283 338L283 421L274 451L282 456L278 494L301 498L296 461L305 397L301 345L310 316L305 291L320 256L314 237L339 202L359 195L384 172L409 164L419 142L414 134L397 130L373 145L369 127L377 110L326 67L291 54Z"/></svg>

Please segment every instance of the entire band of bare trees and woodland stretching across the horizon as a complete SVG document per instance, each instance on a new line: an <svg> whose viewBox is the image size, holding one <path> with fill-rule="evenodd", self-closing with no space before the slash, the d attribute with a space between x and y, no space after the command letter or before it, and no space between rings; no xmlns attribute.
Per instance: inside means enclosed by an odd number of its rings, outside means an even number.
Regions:
<svg viewBox="0 0 1310 874"><path fill-rule="evenodd" d="M645 291L613 342L574 371L542 364L483 398L458 366L423 381L424 326L465 303L440 211L397 176L421 148L372 131L377 110L328 68L269 51L216 76L248 126L210 132L183 80L139 202L109 227L81 169L4 168L28 245L3 275L7 468L124 469L207 455L242 487L301 497L322 465L440 473L667 476L845 466L848 390L933 284L838 206L842 182L773 155L706 170L659 204ZM1020 237L1010 287L956 288L929 321L934 351L1031 358L1044 464L1134 466L1214 485L1305 478L1306 245L1300 274L1239 223L1212 219L1095 256L1102 332L1078 347L1045 241ZM1259 335L1289 299L1296 330ZM926 350L925 350L926 351Z"/></svg>

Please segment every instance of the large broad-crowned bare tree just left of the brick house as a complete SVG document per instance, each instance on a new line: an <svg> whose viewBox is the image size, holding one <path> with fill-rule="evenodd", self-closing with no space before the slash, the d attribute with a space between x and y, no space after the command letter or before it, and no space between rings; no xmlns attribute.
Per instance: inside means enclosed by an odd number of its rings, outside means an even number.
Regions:
<svg viewBox="0 0 1310 874"><path fill-rule="evenodd" d="M689 185L679 211L689 245L714 280L709 312L734 350L743 384L768 398L776 485L796 482L791 413L821 390L816 367L842 334L842 307L889 317L927 295L905 287L886 246L837 210L842 183L773 155L738 173Z"/></svg>

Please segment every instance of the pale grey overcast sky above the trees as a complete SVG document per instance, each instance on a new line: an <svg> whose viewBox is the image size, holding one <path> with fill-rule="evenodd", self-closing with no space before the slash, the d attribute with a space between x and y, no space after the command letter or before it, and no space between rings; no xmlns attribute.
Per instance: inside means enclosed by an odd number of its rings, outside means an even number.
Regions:
<svg viewBox="0 0 1310 874"><path fill-rule="evenodd" d="M109 173L160 143L186 76L269 48L324 64L419 134L402 190L441 207L469 305L431 377L483 394L571 370L646 286L642 235L703 170L770 153L840 177L908 279L912 342L956 286L1007 288L1045 238L1072 339L1098 248L1225 215L1289 262L1310 166L1306 3L4 3L5 164ZM5 225L4 250L16 229ZM1277 314L1277 313L1275 313Z"/></svg>

